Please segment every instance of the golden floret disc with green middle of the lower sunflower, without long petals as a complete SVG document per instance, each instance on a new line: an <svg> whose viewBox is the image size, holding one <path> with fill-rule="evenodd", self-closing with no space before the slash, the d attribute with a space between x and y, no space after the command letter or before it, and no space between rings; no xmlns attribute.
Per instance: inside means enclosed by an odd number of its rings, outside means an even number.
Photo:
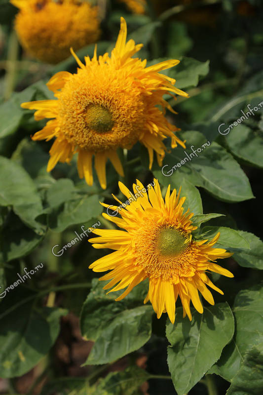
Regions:
<svg viewBox="0 0 263 395"><path fill-rule="evenodd" d="M195 243L191 232L171 218L153 216L134 231L136 264L150 278L163 278L177 283L180 276L195 272Z"/></svg>

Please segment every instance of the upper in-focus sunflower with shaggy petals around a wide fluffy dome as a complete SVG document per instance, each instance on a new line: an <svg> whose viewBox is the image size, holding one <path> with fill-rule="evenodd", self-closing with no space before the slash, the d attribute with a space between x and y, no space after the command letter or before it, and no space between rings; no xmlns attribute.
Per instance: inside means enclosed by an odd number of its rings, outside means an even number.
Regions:
<svg viewBox="0 0 263 395"><path fill-rule="evenodd" d="M146 67L146 60L132 58L142 44L135 45L133 40L126 43L126 36L126 22L121 18L111 56L105 53L98 58L95 47L93 58L85 57L84 65L72 51L79 66L77 73L59 72L47 83L58 100L21 105L37 110L36 119L54 118L33 136L33 140L56 138L50 150L47 171L52 170L58 161L69 162L76 152L79 177L84 177L87 184L92 185L92 158L95 156L98 179L105 189L107 158L123 176L116 153L118 148L130 149L140 141L148 149L150 168L153 151L159 165L162 163L166 150L162 142L164 138L171 137L172 148L177 144L185 148L184 142L174 134L178 129L164 117L165 108L173 110L162 96L169 92L182 96L188 94L174 86L175 79L158 73L177 65L179 60Z"/></svg>

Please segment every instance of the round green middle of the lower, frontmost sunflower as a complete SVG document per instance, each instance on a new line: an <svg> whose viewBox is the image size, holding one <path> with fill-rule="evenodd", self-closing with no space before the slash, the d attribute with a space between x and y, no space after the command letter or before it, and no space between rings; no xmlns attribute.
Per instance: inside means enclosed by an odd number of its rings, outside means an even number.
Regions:
<svg viewBox="0 0 263 395"><path fill-rule="evenodd" d="M157 237L157 249L163 256L179 255L186 251L189 242L179 229L162 228Z"/></svg>

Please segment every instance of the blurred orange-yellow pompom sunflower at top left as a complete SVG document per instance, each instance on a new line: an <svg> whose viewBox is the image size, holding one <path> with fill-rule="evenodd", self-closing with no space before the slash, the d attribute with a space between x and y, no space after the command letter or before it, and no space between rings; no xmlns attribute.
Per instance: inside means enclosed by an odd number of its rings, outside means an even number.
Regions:
<svg viewBox="0 0 263 395"><path fill-rule="evenodd" d="M77 0L10 0L20 11L15 29L22 46L37 59L58 63L100 36L97 7Z"/></svg>

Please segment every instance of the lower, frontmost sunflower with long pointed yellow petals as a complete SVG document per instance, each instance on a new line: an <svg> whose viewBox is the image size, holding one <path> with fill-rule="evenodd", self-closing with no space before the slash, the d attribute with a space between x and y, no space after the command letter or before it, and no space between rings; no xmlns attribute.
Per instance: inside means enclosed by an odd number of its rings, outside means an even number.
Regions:
<svg viewBox="0 0 263 395"><path fill-rule="evenodd" d="M137 180L133 193L122 183L119 188L128 200L119 207L101 203L110 215L104 217L123 230L94 230L100 237L89 239L94 248L110 248L113 253L93 262L89 268L95 272L109 271L101 280L111 280L104 289L126 290L116 299L123 299L138 283L149 278L149 292L144 301L149 300L159 318L167 312L172 323L175 320L175 304L181 299L184 316L191 320L190 301L199 313L203 306L198 291L210 304L213 296L207 285L223 295L207 276L207 272L223 276L233 275L215 263L218 258L227 258L232 253L223 248L214 248L220 233L212 240L194 240L192 225L194 215L189 209L184 213L185 197L180 198L174 189L170 195L168 186L165 199L155 179L149 184L148 194L143 184ZM121 203L116 197L115 199ZM117 212L121 218L116 217ZM116 285L117 284L117 285Z"/></svg>

